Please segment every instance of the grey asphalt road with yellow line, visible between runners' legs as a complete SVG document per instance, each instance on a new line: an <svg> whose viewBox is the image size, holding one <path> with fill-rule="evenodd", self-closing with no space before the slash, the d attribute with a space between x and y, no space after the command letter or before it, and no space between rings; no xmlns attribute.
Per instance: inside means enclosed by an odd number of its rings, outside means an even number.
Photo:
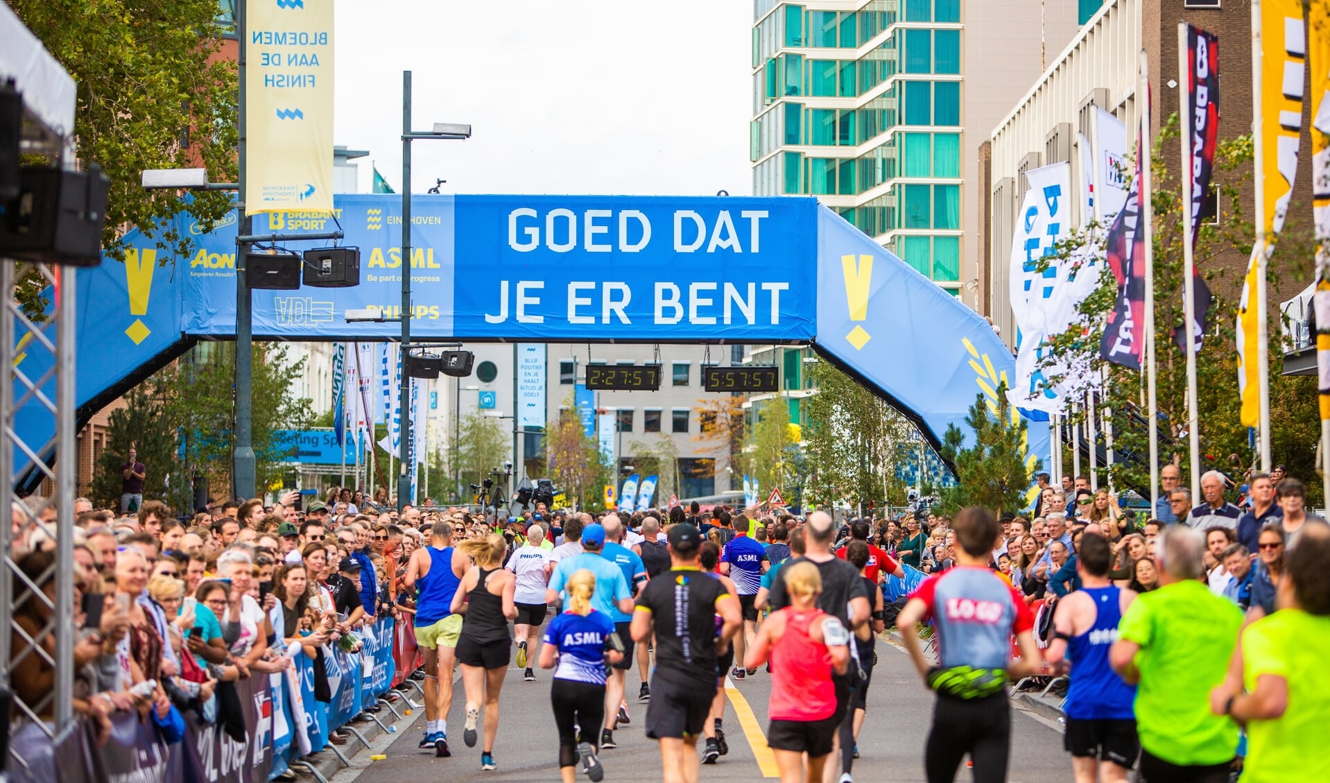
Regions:
<svg viewBox="0 0 1330 783"><path fill-rule="evenodd" d="M861 759L854 764L857 780L924 780L923 746L932 717L934 698L915 675L903 650L878 642L878 667L868 691L868 711L859 735ZM383 760L371 762L360 754L354 768L343 770L334 783L415 783L447 779L458 783L505 780L535 783L559 780L559 735L549 706L549 671L537 670L537 682L523 682L521 671L509 670L500 697L499 734L493 755L497 771L480 771L480 747L462 743L464 697L458 679L448 715L452 758L438 759L416 748L424 726L424 710L416 710L416 723L403 728L387 747L375 750ZM642 734L646 705L636 694L641 679L634 669L628 674L632 723L614 732L618 747L601 752L605 780L660 780L660 755L653 740ZM742 682L729 682L725 732L730 752L714 766L702 767L706 780L762 780L777 778L766 748L766 703L770 678L758 671ZM734 698L734 693L741 698ZM839 778L839 775L838 775ZM579 779L584 779L579 775ZM956 780L970 780L962 766ZM1061 732L1045 721L1013 710L1012 755L1007 779L1011 783L1064 782L1071 779L1071 756L1063 751Z"/></svg>

